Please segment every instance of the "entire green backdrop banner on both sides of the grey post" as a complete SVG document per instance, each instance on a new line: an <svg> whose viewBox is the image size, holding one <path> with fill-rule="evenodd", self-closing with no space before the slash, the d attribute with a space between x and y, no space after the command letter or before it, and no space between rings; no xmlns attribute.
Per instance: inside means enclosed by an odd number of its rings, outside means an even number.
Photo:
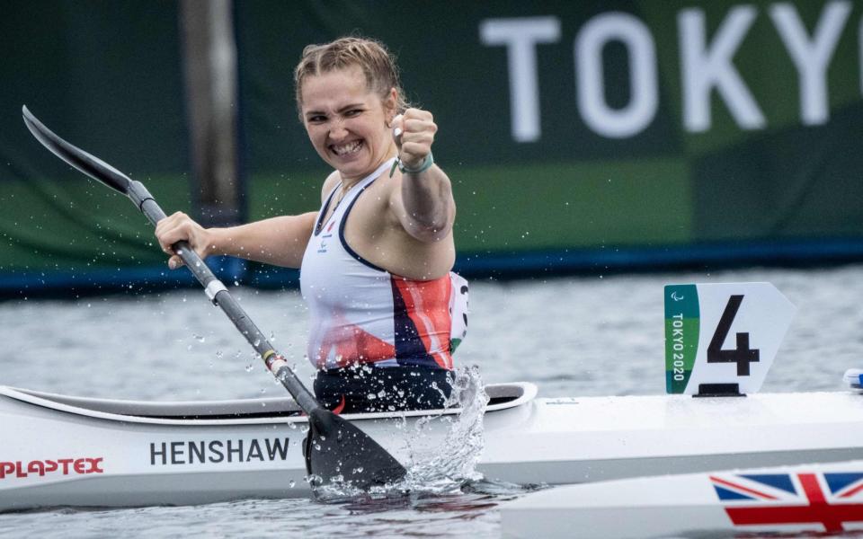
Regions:
<svg viewBox="0 0 863 539"><path fill-rule="evenodd" d="M4 6L6 285L161 267L128 201L36 145L20 110L194 211L178 12ZM464 268L861 258L861 17L860 0L236 2L248 213L319 206L292 71L305 45L360 34L439 125Z"/></svg>

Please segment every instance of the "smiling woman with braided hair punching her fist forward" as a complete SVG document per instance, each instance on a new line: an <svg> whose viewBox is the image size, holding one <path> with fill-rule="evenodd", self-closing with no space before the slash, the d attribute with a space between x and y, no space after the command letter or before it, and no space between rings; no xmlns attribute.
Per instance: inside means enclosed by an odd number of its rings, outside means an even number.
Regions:
<svg viewBox="0 0 863 539"><path fill-rule="evenodd" d="M309 45L294 83L309 141L334 169L321 208L229 228L175 213L156 226L168 264L182 264L171 245L186 240L201 257L299 268L319 401L344 413L441 408L467 287L450 274L456 205L432 157L438 127L407 106L376 40Z"/></svg>

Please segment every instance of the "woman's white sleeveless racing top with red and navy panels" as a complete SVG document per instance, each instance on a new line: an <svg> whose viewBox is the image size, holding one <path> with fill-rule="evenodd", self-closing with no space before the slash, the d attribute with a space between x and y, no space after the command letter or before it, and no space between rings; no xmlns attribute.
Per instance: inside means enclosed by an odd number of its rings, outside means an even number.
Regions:
<svg viewBox="0 0 863 539"><path fill-rule="evenodd" d="M451 369L450 337L457 339L455 344L467 331L467 281L455 274L457 285L449 276L430 281L398 277L363 259L344 239L351 208L393 161L351 187L322 223L341 184L336 186L309 238L299 282L311 318L308 358L318 368L374 363ZM464 310L456 314L457 325L454 306Z"/></svg>

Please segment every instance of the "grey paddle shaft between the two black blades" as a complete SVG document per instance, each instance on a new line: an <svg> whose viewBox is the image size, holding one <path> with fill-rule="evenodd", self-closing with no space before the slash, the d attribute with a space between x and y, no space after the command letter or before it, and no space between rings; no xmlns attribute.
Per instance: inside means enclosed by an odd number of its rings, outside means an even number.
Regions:
<svg viewBox="0 0 863 539"><path fill-rule="evenodd" d="M156 203L156 199L149 193L144 184L140 181L129 181L127 193L129 199L135 203L147 219L153 225L165 218L165 212ZM200 255L189 246L185 241L173 244L173 251L180 256L183 263L191 271L192 275L198 279L204 291L209 296L210 300L217 305L223 313L236 326L236 329L243 333L245 340L249 341L252 348L258 352L267 363L267 368L270 369L285 389L294 397L299 404L299 407L311 413L320 408L320 404L316 401L312 393L309 393L306 386L300 384L297 376L288 366L284 359L276 354L275 349L270 344L258 326L252 322L252 319L245 314L245 310L236 301L234 296L227 291L225 285L213 275L207 264L200 258Z"/></svg>

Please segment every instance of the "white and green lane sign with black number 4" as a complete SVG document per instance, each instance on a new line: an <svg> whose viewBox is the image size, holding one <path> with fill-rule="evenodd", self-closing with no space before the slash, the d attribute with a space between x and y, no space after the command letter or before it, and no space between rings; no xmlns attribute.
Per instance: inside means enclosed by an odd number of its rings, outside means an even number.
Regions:
<svg viewBox="0 0 863 539"><path fill-rule="evenodd" d="M770 283L665 287L665 391L761 389L796 307Z"/></svg>

